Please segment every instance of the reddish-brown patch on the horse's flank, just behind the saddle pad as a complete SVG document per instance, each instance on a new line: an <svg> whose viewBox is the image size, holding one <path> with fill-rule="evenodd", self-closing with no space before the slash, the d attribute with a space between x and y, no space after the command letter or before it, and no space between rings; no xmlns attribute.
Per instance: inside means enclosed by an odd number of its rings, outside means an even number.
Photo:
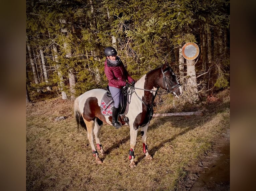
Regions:
<svg viewBox="0 0 256 191"><path fill-rule="evenodd" d="M101 108L98 105L98 99L96 97L88 97L86 99L83 117L87 121L92 121L95 117L98 117L101 121L107 123L104 115L101 113Z"/></svg>

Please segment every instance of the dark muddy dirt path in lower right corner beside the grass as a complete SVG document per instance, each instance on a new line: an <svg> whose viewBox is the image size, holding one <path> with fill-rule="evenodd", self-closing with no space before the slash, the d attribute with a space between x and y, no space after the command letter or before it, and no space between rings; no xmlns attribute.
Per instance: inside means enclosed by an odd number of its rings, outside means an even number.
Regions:
<svg viewBox="0 0 256 191"><path fill-rule="evenodd" d="M187 169L182 191L229 191L230 190L230 131L214 142L212 151L197 166Z"/></svg>

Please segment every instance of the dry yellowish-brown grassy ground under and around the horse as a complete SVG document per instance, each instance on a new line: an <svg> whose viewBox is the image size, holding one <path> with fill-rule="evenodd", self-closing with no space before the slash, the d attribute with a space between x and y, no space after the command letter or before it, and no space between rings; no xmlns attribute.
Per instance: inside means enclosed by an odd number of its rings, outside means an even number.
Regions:
<svg viewBox="0 0 256 191"><path fill-rule="evenodd" d="M166 105L169 105L166 106ZM158 106L171 111L173 104ZM176 106L177 107L177 106ZM107 155L96 165L86 131L77 130L73 101L50 99L26 107L26 188L52 190L178 190L186 169L198 164L217 137L230 126L229 90L198 106L203 116L155 117L148 130L144 158L138 133L137 166L129 167L129 127L103 125L100 138ZM55 121L55 117L65 120Z"/></svg>

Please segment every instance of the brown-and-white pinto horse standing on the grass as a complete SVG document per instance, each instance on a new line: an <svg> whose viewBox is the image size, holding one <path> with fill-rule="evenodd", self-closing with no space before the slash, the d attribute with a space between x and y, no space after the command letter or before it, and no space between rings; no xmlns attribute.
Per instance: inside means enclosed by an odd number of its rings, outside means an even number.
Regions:
<svg viewBox="0 0 256 191"><path fill-rule="evenodd" d="M162 66L142 76L134 86L129 87L129 109L126 114L129 122L124 122L119 115L122 125L130 126L129 165L131 168L136 166L134 150L139 128L145 158L152 159L147 148L147 130L149 121L153 116L153 101L159 88L166 90L167 93L172 93L175 97L179 97L182 94L181 85L178 83L176 75L167 61ZM105 150L99 137L100 130L103 123L112 126L112 116L103 115L101 111L101 100L106 92L107 90L104 89L92 89L78 96L74 102L74 116L77 121L77 128L81 125L87 130L87 138L97 164L101 164L102 159L99 157L94 145L94 135L97 149L104 156Z"/></svg>

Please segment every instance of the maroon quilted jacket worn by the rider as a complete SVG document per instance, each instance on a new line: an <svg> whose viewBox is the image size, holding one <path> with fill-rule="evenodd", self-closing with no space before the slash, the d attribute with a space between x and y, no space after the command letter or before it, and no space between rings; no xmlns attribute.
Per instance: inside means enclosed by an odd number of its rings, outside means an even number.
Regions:
<svg viewBox="0 0 256 191"><path fill-rule="evenodd" d="M122 62L118 66L108 67L106 60L104 67L104 72L109 82L108 85L111 87L121 89L126 85L126 80L128 80L130 84L134 81Z"/></svg>

